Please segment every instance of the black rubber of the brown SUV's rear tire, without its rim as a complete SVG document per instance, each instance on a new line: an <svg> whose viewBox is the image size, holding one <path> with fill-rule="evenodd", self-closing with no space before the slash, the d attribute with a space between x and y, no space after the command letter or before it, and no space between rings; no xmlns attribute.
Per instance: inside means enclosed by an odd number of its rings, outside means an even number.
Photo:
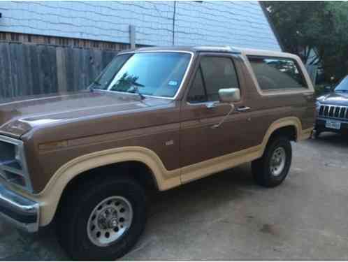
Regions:
<svg viewBox="0 0 348 262"><path fill-rule="evenodd" d="M284 168L282 168L282 172L279 175L273 175L270 170L271 158L273 152L280 147L283 148L285 152ZM252 161L252 174L254 180L262 187L276 187L284 181L285 177L287 177L291 166L291 159L292 150L289 139L283 136L273 138L266 146L263 156L260 159Z"/></svg>

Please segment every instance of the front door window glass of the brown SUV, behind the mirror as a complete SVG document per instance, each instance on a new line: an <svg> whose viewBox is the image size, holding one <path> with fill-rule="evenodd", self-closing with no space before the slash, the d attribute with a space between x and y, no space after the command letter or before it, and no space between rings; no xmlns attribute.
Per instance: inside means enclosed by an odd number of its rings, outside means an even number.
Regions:
<svg viewBox="0 0 348 262"><path fill-rule="evenodd" d="M239 88L238 76L229 57L203 57L189 91L190 103L218 101L219 89Z"/></svg>

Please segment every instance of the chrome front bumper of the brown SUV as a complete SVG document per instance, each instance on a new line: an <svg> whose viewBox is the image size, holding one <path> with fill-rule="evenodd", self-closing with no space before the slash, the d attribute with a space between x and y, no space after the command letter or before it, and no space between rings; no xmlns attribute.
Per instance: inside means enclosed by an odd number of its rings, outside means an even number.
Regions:
<svg viewBox="0 0 348 262"><path fill-rule="evenodd" d="M24 198L0 184L0 217L24 231L38 231L38 203Z"/></svg>

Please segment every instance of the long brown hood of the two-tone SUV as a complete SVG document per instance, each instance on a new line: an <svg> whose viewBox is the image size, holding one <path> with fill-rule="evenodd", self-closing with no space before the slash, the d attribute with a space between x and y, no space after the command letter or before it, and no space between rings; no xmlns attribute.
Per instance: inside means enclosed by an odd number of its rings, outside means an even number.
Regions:
<svg viewBox="0 0 348 262"><path fill-rule="evenodd" d="M0 134L20 138L35 127L101 117L117 112L144 110L168 103L167 99L146 98L136 94L82 91L49 96L27 96L0 102Z"/></svg>

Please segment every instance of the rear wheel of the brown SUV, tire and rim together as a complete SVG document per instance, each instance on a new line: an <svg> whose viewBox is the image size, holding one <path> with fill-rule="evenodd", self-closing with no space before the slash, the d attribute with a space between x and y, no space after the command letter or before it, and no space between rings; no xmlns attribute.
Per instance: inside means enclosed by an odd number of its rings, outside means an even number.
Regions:
<svg viewBox="0 0 348 262"><path fill-rule="evenodd" d="M276 187L281 184L291 166L291 143L286 137L270 140L261 159L252 162L252 173L257 184Z"/></svg>

